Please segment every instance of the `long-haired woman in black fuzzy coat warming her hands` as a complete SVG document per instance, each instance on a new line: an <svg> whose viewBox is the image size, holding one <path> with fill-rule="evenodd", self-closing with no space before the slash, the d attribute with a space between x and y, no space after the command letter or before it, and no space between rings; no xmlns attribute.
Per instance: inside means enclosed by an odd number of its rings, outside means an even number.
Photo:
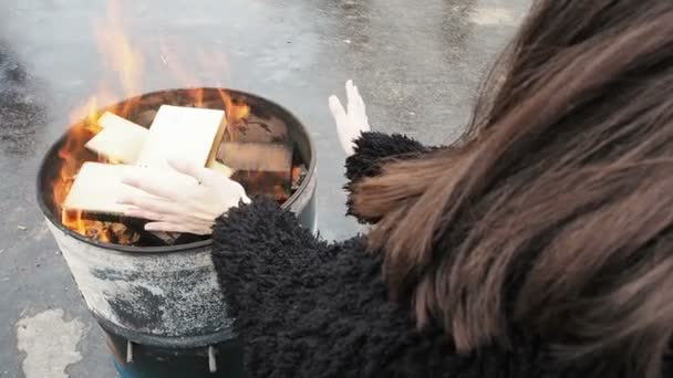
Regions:
<svg viewBox="0 0 673 378"><path fill-rule="evenodd" d="M353 151L374 225L345 242L179 164L180 209L127 201L196 232L231 207L213 258L251 376L673 377L673 2L536 1L459 144Z"/></svg>

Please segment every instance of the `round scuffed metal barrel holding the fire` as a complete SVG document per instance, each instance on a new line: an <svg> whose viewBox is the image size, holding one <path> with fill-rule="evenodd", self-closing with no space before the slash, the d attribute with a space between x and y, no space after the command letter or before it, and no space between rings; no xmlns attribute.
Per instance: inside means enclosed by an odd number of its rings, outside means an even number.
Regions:
<svg viewBox="0 0 673 378"><path fill-rule="evenodd" d="M179 97L179 92L173 96ZM214 90L208 90L214 91ZM307 129L289 112L240 92L288 126L308 171L283 203L315 229L317 164ZM242 350L211 260L213 241L134 248L101 243L66 229L50 198L65 135L45 155L38 202L82 297L105 334L122 377L245 377Z"/></svg>

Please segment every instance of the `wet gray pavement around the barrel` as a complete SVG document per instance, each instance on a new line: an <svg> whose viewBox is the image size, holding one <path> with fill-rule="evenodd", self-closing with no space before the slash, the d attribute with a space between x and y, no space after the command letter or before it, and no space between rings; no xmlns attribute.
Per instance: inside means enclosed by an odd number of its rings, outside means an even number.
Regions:
<svg viewBox="0 0 673 378"><path fill-rule="evenodd" d="M516 30L527 0L118 1L142 51L137 91L224 85L271 98L310 128L319 150L319 229L358 232L345 218L343 153L327 98L353 78L372 127L451 140L475 88ZM69 114L111 77L95 28L105 1L0 2L0 378L114 377L35 206L37 166ZM117 92L115 98L121 98Z"/></svg>

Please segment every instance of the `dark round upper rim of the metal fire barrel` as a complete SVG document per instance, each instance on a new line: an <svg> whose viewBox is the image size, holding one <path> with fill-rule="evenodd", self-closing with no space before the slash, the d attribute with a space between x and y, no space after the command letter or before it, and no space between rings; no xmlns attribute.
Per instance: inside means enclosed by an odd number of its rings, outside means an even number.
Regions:
<svg viewBox="0 0 673 378"><path fill-rule="evenodd" d="M301 182L301 185L299 186L299 188L297 189L297 191L294 193L292 193L292 196L290 196L290 198L281 204L281 208L283 210L290 210L293 208L294 204L300 204L300 201L306 196L309 196L309 198L306 199L306 202L308 203L310 197L314 196L315 181L317 181L315 170L318 167L318 156L315 153L315 144L314 144L313 137L311 136L311 133L309 133L306 125L299 120L299 118L297 118L290 111L288 111L287 108L284 108L283 106L279 105L278 103L276 103L271 99L268 99L268 98L265 98L265 97L261 97L261 96L248 93L248 92L230 90L230 88L218 88L218 87L172 88L172 90L155 91L155 92L142 94L139 96L125 98L116 104L103 107L101 109L101 112L104 112L105 109L121 108L123 106L123 104L126 104L126 103L130 103L133 101L138 101L139 98L145 97L145 96L161 95L162 93L169 93L169 92L190 93L190 92L195 92L195 91L199 91L199 90L208 91L208 92L209 91L226 91L228 94L236 96L236 97L251 98L255 102L263 103L266 106L273 108L277 114L281 114L282 119L283 119L283 122L286 122L286 124L292 125L292 127L299 127L301 129L301 133L303 134L303 136L306 137L306 139L309 144L308 148L309 148L309 154L310 154L310 161L308 162L307 175L306 175L303 181ZM80 123L83 123L83 122L84 120L81 120ZM77 124L70 125L68 130L59 139L56 139L56 141L54 141L51 145L51 147L48 149L46 154L44 154L44 156L42 157L41 162L40 162L40 169L38 170L38 179L37 179L38 206L40 207L40 210L42 211L44 217L46 217L49 222L54 224L59 230L65 232L68 235L75 238L82 242L95 245L95 246L104 249L104 250L124 252L124 253L134 253L134 254L138 254L138 253L176 253L176 252L183 252L183 251L187 251L187 250L204 249L204 248L208 248L208 246L213 245L213 239L198 241L198 242L189 243L189 244L166 245L166 246L118 245L118 244L113 244L113 243L103 243L100 241L95 241L93 239L81 235L81 234L70 230L69 228L64 227L62 224L62 222L58 219L56 214L54 214L54 212L52 211L51 206L45 202L45 198L44 198L45 196L44 196L43 191L46 186L46 182L45 182L46 170L48 170L48 167L50 166L50 164L52 164L50 161L50 159L53 158L54 156L58 156L59 149L65 143L69 130L76 125ZM303 206L306 207L307 203L304 203Z"/></svg>

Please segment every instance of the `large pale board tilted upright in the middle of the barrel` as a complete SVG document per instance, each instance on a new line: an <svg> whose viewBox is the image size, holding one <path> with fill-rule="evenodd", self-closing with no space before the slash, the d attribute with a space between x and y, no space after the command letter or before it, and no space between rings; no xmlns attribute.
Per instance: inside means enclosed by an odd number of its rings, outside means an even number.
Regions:
<svg viewBox="0 0 673 378"><path fill-rule="evenodd" d="M162 105L136 165L165 167L169 159L207 167L226 127L224 111Z"/></svg>

